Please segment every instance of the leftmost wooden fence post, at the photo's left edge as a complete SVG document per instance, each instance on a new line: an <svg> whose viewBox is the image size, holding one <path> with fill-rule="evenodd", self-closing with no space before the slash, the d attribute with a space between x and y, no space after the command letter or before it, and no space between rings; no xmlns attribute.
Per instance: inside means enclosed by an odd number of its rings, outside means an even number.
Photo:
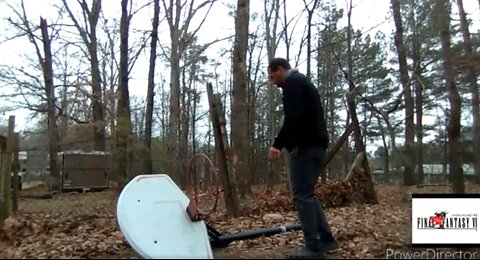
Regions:
<svg viewBox="0 0 480 260"><path fill-rule="evenodd" d="M12 157L14 147L14 130L15 130L15 116L8 118L8 136L7 136L7 151L5 153L5 160L2 162L3 170L3 205L2 216L0 220L6 219L10 216L10 186L12 180Z"/></svg>

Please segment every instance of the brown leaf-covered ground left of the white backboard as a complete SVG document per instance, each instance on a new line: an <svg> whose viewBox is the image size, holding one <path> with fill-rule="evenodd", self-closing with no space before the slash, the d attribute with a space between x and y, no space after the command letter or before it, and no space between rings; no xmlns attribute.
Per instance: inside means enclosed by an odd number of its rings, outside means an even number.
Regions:
<svg viewBox="0 0 480 260"><path fill-rule="evenodd" d="M20 211L0 225L7 258L92 258L127 252L110 192L23 199ZM0 250L1 251L1 250Z"/></svg>

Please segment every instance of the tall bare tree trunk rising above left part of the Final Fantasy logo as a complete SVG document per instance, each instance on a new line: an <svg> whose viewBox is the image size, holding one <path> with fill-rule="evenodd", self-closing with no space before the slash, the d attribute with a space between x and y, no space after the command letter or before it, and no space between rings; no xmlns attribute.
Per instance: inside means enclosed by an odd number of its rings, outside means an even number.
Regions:
<svg viewBox="0 0 480 260"><path fill-rule="evenodd" d="M408 76L407 55L403 43L403 25L400 13L400 0L391 0L393 18L395 21L395 45L397 47L398 61L400 65L400 80L405 96L405 162L403 180L405 185L415 184L413 166L415 165L414 149L414 124L413 124L413 97L411 84Z"/></svg>

